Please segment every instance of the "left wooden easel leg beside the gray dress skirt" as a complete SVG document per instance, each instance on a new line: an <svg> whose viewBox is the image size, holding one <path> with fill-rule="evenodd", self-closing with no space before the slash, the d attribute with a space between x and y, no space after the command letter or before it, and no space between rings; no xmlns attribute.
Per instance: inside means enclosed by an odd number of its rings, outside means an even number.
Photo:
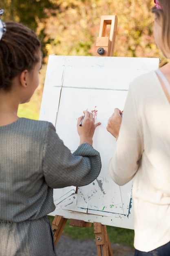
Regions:
<svg viewBox="0 0 170 256"><path fill-rule="evenodd" d="M53 222L52 222L52 229L54 233L54 241L55 246L58 243L58 240L62 234L64 226L66 225L67 219L63 218L62 216L55 215Z"/></svg>

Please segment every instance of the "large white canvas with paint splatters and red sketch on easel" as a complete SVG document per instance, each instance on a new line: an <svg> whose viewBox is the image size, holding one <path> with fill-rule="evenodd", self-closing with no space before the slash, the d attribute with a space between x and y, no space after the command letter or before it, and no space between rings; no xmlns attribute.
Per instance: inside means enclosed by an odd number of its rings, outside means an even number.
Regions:
<svg viewBox="0 0 170 256"><path fill-rule="evenodd" d="M49 57L40 120L53 123L71 152L79 145L76 126L83 110L97 110L96 122L102 122L93 137L102 159L100 175L77 193L74 186L55 189L51 215L133 229L132 181L118 186L110 177L115 138L106 126L114 108L124 109L130 81L158 67L156 58Z"/></svg>

